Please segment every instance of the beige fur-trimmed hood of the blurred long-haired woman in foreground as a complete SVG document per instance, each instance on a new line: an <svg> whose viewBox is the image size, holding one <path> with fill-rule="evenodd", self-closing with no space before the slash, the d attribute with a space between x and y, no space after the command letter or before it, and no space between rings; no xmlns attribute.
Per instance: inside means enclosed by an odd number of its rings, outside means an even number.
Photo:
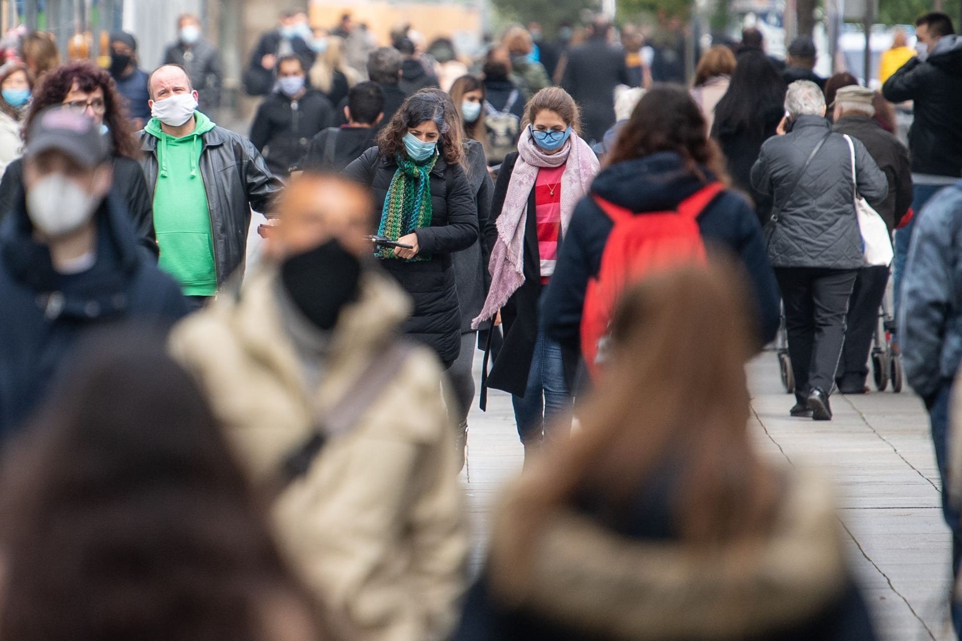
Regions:
<svg viewBox="0 0 962 641"><path fill-rule="evenodd" d="M552 515L540 532L521 531L517 499L530 484L522 479L495 517L492 598L625 641L723 641L790 629L837 599L848 574L827 483L811 471L792 471L787 481L764 539L697 550L625 538L573 509ZM508 546L530 536L535 556L519 569Z"/></svg>

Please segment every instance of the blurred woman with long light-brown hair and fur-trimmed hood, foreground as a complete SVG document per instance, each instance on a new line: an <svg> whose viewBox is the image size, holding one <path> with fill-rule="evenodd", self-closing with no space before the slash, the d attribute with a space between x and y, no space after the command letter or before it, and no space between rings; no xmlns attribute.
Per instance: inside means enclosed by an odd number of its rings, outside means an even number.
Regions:
<svg viewBox="0 0 962 641"><path fill-rule="evenodd" d="M576 438L505 492L454 641L872 641L827 484L753 445L738 272L630 289Z"/></svg>

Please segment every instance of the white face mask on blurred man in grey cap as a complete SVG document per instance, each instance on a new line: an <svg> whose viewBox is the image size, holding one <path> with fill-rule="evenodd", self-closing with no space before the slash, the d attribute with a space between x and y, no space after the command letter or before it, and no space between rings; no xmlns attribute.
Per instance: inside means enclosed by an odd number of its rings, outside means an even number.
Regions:
<svg viewBox="0 0 962 641"><path fill-rule="evenodd" d="M100 199L63 174L50 174L27 191L27 215L40 234L61 236L89 221Z"/></svg>

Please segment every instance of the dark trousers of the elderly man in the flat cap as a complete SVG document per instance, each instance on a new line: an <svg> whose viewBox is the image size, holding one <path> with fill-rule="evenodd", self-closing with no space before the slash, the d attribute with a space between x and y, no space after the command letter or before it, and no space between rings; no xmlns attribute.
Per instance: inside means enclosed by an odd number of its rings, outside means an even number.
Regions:
<svg viewBox="0 0 962 641"><path fill-rule="evenodd" d="M848 299L845 345L835 381L843 391L861 390L869 376L869 350L878 327L878 308L889 283L888 267L863 267Z"/></svg>

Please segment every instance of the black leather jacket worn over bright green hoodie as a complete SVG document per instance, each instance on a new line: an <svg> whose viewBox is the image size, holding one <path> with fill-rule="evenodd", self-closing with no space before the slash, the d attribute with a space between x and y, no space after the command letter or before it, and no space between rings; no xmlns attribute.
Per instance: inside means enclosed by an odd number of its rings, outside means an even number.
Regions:
<svg viewBox="0 0 962 641"><path fill-rule="evenodd" d="M153 193L158 174L157 138L144 131L138 136L143 150L140 166L147 188ZM200 153L200 177L207 189L219 286L243 265L250 210L271 217L274 197L284 184L270 173L264 159L247 138L223 127L215 127L201 138L204 149Z"/></svg>

